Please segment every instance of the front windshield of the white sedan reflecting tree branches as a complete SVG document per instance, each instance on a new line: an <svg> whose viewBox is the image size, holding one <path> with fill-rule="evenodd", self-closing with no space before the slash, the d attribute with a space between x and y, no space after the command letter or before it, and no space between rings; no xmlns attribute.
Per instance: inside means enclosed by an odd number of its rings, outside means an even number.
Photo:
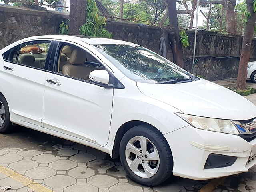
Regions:
<svg viewBox="0 0 256 192"><path fill-rule="evenodd" d="M161 83L191 81L188 72L141 46L124 44L94 45L128 78L136 82ZM188 81L189 82L189 81Z"/></svg>

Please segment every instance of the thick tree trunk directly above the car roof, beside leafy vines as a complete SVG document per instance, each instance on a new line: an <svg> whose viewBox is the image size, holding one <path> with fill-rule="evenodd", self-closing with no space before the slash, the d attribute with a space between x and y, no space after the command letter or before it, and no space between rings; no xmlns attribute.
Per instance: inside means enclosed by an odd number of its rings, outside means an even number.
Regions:
<svg viewBox="0 0 256 192"><path fill-rule="evenodd" d="M87 0L70 0L69 34L79 35L79 28L86 22Z"/></svg>

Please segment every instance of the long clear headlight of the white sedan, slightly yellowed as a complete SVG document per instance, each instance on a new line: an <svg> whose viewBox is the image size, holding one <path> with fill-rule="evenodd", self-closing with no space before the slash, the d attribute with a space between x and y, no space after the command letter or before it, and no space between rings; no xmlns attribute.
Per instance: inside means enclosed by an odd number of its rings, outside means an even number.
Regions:
<svg viewBox="0 0 256 192"><path fill-rule="evenodd" d="M238 135L236 126L230 120L214 119L200 116L187 115L183 113L175 113L180 118L191 124L193 127L203 130L222 132Z"/></svg>

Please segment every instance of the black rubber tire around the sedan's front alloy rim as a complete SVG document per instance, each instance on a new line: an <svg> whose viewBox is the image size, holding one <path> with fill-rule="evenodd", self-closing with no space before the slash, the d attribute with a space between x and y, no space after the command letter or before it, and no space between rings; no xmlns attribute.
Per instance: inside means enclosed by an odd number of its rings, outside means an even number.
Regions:
<svg viewBox="0 0 256 192"><path fill-rule="evenodd" d="M160 158L159 168L156 174L154 174L154 176L150 178L142 178L134 174L134 172L130 169L126 161L126 145L130 141L130 139L136 136L143 136L148 138L158 150ZM173 158L170 146L168 145L162 133L153 126L138 125L128 130L124 134L120 142L119 153L120 160L124 166L124 169L126 170L128 176L135 182L138 182L145 186L156 186L170 178L170 176L172 176Z"/></svg>

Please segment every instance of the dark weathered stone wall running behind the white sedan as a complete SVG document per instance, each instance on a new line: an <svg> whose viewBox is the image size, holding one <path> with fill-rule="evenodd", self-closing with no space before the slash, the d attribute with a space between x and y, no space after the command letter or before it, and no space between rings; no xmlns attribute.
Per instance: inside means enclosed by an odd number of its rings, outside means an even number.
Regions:
<svg viewBox="0 0 256 192"><path fill-rule="evenodd" d="M0 48L29 36L58 34L58 25L67 14L0 5ZM167 58L172 60L168 29L144 24L108 21L106 28L113 38L140 44L160 52L160 38L166 42ZM186 31L190 46L184 49L186 70L220 80L237 76L242 36L224 36L216 32L198 31L196 63L192 66L194 31ZM250 60L256 60L256 40L252 42Z"/></svg>

